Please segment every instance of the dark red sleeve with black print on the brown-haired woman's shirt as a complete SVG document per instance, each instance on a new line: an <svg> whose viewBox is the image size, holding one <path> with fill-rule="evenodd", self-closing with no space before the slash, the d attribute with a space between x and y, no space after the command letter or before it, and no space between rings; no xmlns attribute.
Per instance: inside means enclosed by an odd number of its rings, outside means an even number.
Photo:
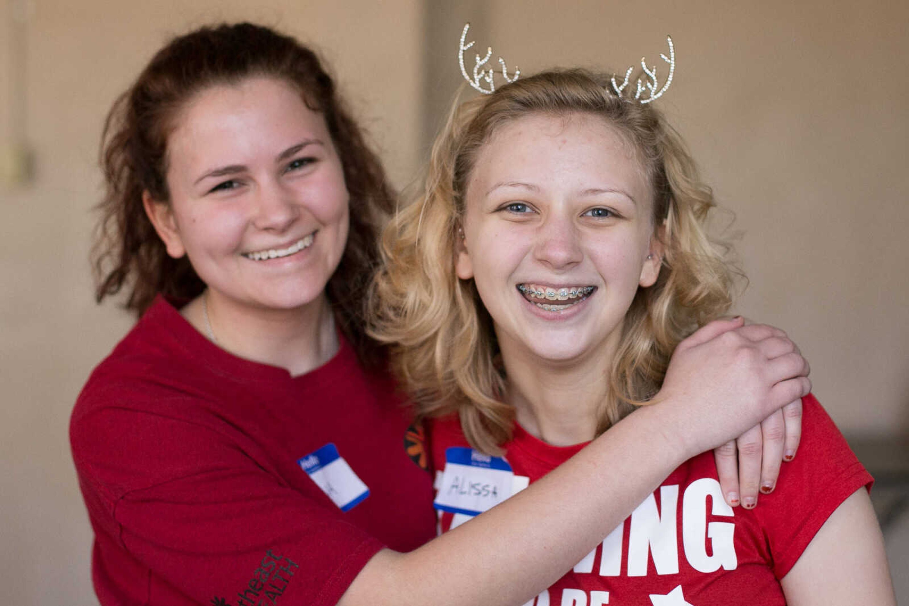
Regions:
<svg viewBox="0 0 909 606"><path fill-rule="evenodd" d="M335 604L382 548L318 495L257 463L257 453L245 451L255 444L241 446L191 419L106 407L74 419L71 439L97 536L103 603L130 596Z"/></svg>

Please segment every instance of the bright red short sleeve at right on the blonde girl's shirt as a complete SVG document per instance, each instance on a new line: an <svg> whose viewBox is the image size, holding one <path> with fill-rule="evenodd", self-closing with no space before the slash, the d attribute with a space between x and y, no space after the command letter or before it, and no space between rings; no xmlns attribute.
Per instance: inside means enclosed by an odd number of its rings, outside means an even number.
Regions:
<svg viewBox="0 0 909 606"><path fill-rule="evenodd" d="M874 479L814 395L803 400L802 441L784 462L774 493L754 510L763 518L774 575L782 579L824 522L855 490Z"/></svg>

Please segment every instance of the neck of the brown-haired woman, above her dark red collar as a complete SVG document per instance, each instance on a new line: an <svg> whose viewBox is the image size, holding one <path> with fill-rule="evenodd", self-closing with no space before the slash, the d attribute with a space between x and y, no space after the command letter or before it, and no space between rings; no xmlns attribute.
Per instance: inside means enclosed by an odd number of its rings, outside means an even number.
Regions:
<svg viewBox="0 0 909 606"><path fill-rule="evenodd" d="M207 308L207 322L205 318ZM218 347L244 359L286 369L292 376L316 369L339 348L335 319L325 295L300 308L249 308L207 290L181 310Z"/></svg>

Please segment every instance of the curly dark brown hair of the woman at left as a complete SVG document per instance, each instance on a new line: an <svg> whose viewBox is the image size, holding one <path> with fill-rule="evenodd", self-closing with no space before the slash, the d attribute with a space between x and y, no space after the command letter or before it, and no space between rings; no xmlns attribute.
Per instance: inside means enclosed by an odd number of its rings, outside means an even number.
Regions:
<svg viewBox="0 0 909 606"><path fill-rule="evenodd" d="M167 255L142 196L147 191L155 200L170 200L167 138L185 104L205 88L255 76L295 86L306 106L325 118L351 210L345 253L325 292L361 359L375 361L379 346L365 335L362 301L377 265L377 229L394 207L395 192L315 53L261 25L205 26L175 37L115 101L102 135L106 192L92 252L95 298L127 288L125 308L141 316L159 293L188 300L205 289L187 258Z"/></svg>

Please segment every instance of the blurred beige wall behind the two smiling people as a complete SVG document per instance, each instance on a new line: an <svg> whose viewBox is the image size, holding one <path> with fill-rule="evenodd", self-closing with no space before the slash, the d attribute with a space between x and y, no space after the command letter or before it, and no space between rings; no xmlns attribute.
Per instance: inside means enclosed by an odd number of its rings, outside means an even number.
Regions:
<svg viewBox="0 0 909 606"><path fill-rule="evenodd" d="M91 530L67 441L90 370L131 325L87 262L105 113L166 39L250 19L318 47L399 187L460 74L464 21L509 66L659 63L659 101L721 203L751 282L738 310L785 328L814 392L874 465L909 434L909 5L904 0L156 3L4 0L0 13L0 584L11 604L95 604ZM474 49L472 49L473 51ZM468 56L468 66L472 64ZM33 175L15 178L21 150ZM864 448L864 447L863 447ZM902 448L902 450L901 450ZM860 456L864 449L860 452ZM874 454L877 452L878 454ZM871 465L871 462L868 462ZM889 471L888 471L889 472ZM904 472L904 471L903 471ZM893 487L886 484L883 490ZM890 505L900 498L898 490ZM894 508L891 508L893 511ZM909 521L887 548L909 604Z"/></svg>

